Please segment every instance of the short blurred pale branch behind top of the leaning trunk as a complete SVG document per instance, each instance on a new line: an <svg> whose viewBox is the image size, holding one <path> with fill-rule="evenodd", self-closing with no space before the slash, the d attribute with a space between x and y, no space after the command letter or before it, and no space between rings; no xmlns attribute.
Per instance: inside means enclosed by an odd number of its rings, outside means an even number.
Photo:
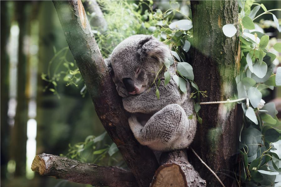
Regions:
<svg viewBox="0 0 281 187"><path fill-rule="evenodd" d="M104 19L103 12L96 0L86 0L84 3L86 12L95 15L90 19L90 25L98 31L103 32L107 29L107 22Z"/></svg>

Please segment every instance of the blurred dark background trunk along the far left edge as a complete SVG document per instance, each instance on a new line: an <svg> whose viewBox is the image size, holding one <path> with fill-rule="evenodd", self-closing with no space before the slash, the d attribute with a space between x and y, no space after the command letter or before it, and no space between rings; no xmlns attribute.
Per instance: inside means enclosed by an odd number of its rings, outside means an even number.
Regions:
<svg viewBox="0 0 281 187"><path fill-rule="evenodd" d="M9 100L9 57L6 50L10 32L8 1L0 6L0 183L6 178L8 162L8 100ZM1 182L2 181L2 182Z"/></svg>

